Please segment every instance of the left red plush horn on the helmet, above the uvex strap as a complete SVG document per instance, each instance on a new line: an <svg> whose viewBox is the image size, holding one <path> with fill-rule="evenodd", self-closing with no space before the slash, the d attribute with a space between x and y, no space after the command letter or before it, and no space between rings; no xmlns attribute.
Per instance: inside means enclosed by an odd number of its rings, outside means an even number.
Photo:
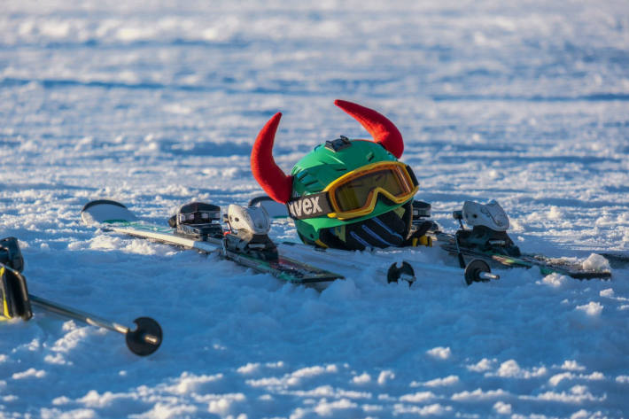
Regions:
<svg viewBox="0 0 629 419"><path fill-rule="evenodd" d="M283 173L273 159L273 142L282 113L276 113L260 130L252 149L252 173L268 196L286 204L291 198L292 176Z"/></svg>

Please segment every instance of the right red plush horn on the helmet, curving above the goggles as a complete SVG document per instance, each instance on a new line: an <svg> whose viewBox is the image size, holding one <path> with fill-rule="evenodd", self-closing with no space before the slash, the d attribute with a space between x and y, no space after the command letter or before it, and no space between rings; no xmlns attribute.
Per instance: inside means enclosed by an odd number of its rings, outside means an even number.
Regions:
<svg viewBox="0 0 629 419"><path fill-rule="evenodd" d="M382 144L386 151L389 151L398 159L402 157L404 140L400 131L393 125L391 120L387 120L383 114L377 113L373 109L353 104L346 100L335 100L334 105L349 113L354 120L358 120L362 127L367 129L367 132L374 137L374 141Z"/></svg>

